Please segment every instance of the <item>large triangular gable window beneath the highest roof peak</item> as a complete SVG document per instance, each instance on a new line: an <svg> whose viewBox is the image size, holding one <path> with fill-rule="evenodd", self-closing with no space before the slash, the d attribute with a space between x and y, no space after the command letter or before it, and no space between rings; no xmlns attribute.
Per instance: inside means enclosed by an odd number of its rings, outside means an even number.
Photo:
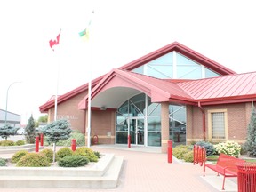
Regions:
<svg viewBox="0 0 256 192"><path fill-rule="evenodd" d="M132 71L160 79L201 79L220 76L211 69L205 68L178 52L169 52Z"/></svg>

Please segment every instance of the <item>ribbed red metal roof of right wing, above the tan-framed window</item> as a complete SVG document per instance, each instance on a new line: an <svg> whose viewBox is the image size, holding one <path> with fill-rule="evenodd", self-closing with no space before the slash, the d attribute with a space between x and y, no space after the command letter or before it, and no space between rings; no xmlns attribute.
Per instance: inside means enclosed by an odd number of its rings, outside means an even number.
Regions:
<svg viewBox="0 0 256 192"><path fill-rule="evenodd" d="M256 72L220 76L178 83L194 100L217 104L256 99Z"/></svg>

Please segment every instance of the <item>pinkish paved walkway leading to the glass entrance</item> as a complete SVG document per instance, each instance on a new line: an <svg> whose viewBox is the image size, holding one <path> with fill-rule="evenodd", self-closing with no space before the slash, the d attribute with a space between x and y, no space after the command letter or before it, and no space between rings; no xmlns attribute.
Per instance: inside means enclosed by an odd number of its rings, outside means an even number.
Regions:
<svg viewBox="0 0 256 192"><path fill-rule="evenodd" d="M181 163L173 159L167 162L167 154L158 148L127 148L122 146L92 146L94 151L115 153L124 156L123 170L117 188L1 188L3 192L217 192L221 191L222 178L215 172L206 170L198 164ZM142 152L141 150L144 150ZM212 184L211 184L212 182ZM225 191L237 191L236 179L226 180Z"/></svg>

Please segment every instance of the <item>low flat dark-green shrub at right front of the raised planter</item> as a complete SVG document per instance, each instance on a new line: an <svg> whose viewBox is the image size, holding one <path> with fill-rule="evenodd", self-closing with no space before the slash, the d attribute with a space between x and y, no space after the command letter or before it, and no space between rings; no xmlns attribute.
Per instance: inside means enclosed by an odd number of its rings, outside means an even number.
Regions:
<svg viewBox="0 0 256 192"><path fill-rule="evenodd" d="M89 159L85 156L64 156L58 162L60 167L79 167L89 163Z"/></svg>

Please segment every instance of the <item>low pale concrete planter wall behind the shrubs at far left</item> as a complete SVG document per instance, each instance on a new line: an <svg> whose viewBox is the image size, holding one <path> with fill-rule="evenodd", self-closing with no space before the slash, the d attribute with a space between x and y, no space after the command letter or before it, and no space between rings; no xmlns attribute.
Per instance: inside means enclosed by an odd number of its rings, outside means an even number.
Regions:
<svg viewBox="0 0 256 192"><path fill-rule="evenodd" d="M39 150L44 149L39 146ZM27 150L28 152L35 151L35 144L26 144L21 146L0 146L0 154L14 154L20 150Z"/></svg>

